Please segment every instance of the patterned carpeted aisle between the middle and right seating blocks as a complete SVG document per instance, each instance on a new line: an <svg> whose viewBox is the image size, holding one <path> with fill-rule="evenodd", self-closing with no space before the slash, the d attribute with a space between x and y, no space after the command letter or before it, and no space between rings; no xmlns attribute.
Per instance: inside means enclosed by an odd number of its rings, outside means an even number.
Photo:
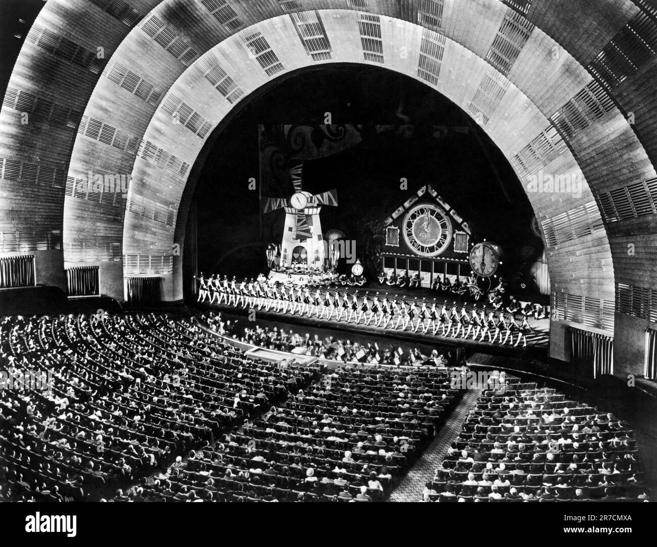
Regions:
<svg viewBox="0 0 657 547"><path fill-rule="evenodd" d="M401 479L399 485L390 494L392 502L420 502L424 484L434 477L438 464L442 462L452 441L461 432L463 421L477 403L482 390L468 390L454 412L447 418L445 426L427 449L422 453L419 460L409 470L407 475Z"/></svg>

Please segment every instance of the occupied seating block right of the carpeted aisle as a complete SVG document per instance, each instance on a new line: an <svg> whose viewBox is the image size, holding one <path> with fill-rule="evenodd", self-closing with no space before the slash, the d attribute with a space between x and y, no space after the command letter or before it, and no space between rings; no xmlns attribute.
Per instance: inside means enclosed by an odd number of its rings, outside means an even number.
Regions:
<svg viewBox="0 0 657 547"><path fill-rule="evenodd" d="M649 499L628 424L553 389L507 382L484 390L425 501Z"/></svg>

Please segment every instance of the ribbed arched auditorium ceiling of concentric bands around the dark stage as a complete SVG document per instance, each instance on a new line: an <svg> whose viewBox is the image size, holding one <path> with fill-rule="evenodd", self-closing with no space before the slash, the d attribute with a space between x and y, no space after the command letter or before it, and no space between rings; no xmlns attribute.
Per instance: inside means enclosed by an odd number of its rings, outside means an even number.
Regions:
<svg viewBox="0 0 657 547"><path fill-rule="evenodd" d="M49 0L0 115L0 231L22 251L63 249L62 268L162 274L180 298L179 204L213 130L292 71L370 63L469 112L525 186L581 176L581 195L528 197L553 291L613 310L614 283L656 287L656 13L645 0ZM89 192L89 172L129 176L127 197Z"/></svg>

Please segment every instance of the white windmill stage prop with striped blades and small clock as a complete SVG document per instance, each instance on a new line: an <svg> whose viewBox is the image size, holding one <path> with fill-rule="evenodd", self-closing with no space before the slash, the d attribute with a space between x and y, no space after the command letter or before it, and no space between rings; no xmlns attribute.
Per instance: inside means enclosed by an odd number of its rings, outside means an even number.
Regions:
<svg viewBox="0 0 657 547"><path fill-rule="evenodd" d="M285 210L283 239L279 248L279 272L288 268L321 269L328 258L319 213L323 205L338 206L338 193L335 189L315 195L305 192L302 188L303 168L301 163L290 169L294 193L289 199L267 197L265 200L264 213ZM270 277L272 273L275 272L272 270Z"/></svg>

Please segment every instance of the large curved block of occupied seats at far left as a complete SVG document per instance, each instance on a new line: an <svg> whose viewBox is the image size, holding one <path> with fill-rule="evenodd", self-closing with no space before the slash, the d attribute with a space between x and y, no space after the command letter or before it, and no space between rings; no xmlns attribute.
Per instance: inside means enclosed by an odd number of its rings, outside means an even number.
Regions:
<svg viewBox="0 0 657 547"><path fill-rule="evenodd" d="M318 375L152 314L5 317L0 365L54 371L51 390L0 390L1 500L100 498Z"/></svg>

